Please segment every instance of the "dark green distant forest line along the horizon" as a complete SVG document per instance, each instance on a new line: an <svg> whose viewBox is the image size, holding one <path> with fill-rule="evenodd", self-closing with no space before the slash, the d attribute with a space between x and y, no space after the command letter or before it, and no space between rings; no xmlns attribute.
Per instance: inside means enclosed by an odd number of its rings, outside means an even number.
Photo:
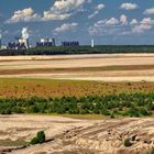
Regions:
<svg viewBox="0 0 154 154"><path fill-rule="evenodd" d="M53 46L36 47L23 51L0 51L1 56L7 55L64 55L64 54L99 54L99 53L154 53L154 45L97 45L94 48L82 46Z"/></svg>

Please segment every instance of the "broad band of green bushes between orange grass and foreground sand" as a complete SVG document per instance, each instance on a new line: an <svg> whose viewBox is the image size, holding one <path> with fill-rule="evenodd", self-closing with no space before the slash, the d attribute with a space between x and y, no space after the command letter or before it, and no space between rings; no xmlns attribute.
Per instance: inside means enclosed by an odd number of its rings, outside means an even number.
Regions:
<svg viewBox="0 0 154 154"><path fill-rule="evenodd" d="M151 116L154 111L154 94L121 94L108 96L62 98L0 99L0 113L58 113L105 116Z"/></svg>

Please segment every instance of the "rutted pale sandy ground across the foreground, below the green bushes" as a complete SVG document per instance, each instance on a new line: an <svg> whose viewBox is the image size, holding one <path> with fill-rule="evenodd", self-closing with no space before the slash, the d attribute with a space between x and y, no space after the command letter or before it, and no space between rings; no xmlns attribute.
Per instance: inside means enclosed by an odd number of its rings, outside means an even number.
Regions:
<svg viewBox="0 0 154 154"><path fill-rule="evenodd" d="M146 154L154 146L153 118L79 120L53 116L1 116L0 125L0 139L30 140L40 130L55 139L11 154ZM125 139L132 140L133 145L125 147Z"/></svg>

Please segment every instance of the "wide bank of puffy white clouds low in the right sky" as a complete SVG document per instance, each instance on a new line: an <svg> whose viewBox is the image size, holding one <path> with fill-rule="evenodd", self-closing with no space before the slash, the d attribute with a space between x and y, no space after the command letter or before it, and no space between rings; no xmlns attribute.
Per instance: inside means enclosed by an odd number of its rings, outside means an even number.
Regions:
<svg viewBox="0 0 154 154"><path fill-rule="evenodd" d="M128 24L129 23L129 24ZM141 21L132 19L128 21L128 16L122 14L120 19L111 18L96 22L89 26L89 35L130 35L140 34L151 30L154 21L151 18L144 18Z"/></svg>

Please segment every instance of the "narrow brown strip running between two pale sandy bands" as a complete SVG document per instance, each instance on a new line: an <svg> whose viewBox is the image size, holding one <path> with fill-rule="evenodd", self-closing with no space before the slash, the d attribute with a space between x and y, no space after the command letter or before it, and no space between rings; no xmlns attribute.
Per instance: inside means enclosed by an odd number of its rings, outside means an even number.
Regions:
<svg viewBox="0 0 154 154"><path fill-rule="evenodd" d="M148 70L154 69L154 65L119 65L81 68L23 68L23 69L0 69L0 75L22 75L22 74L52 74L52 73L78 73L78 72L113 72L113 70Z"/></svg>

